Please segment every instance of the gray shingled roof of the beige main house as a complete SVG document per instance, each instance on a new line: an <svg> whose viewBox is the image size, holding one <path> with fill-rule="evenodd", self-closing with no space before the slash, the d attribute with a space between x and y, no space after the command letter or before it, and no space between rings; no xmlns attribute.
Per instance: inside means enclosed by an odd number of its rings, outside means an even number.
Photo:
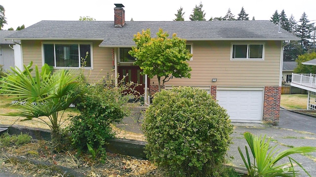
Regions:
<svg viewBox="0 0 316 177"><path fill-rule="evenodd" d="M14 39L100 39L100 46L132 46L133 35L151 29L153 36L159 28L171 36L187 40L299 40L270 21L152 21L126 22L115 28L113 21L40 21L18 33Z"/></svg>

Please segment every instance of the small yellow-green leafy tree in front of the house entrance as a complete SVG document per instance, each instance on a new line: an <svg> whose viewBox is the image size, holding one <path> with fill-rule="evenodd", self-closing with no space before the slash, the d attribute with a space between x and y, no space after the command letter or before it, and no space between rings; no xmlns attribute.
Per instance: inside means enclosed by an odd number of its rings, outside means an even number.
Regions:
<svg viewBox="0 0 316 177"><path fill-rule="evenodd" d="M150 29L134 35L136 47L132 47L128 53L137 58L134 65L142 69L142 74L147 74L149 78L157 75L160 91L161 78L162 87L169 79L176 77L191 77L192 69L186 61L192 57L186 48L186 40L173 34L168 38L168 33L159 29L156 38L151 37Z"/></svg>

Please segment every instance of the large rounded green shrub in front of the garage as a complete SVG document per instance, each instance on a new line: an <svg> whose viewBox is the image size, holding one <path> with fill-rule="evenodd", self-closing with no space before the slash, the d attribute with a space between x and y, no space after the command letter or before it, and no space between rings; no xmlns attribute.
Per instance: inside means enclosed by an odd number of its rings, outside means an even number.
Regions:
<svg viewBox="0 0 316 177"><path fill-rule="evenodd" d="M143 132L150 160L170 176L221 176L233 126L226 110L204 90L179 87L155 94Z"/></svg>

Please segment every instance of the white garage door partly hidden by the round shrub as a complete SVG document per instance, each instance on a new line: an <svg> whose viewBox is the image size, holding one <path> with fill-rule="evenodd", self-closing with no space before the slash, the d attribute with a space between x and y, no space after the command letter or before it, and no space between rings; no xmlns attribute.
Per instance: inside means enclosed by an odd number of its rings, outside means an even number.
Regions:
<svg viewBox="0 0 316 177"><path fill-rule="evenodd" d="M218 104L231 120L262 120L263 87L217 87Z"/></svg>

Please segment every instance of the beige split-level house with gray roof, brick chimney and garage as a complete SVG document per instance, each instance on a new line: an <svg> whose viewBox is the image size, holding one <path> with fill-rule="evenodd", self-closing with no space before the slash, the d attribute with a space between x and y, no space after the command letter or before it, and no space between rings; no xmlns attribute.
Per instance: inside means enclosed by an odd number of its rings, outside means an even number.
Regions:
<svg viewBox="0 0 316 177"><path fill-rule="evenodd" d="M233 121L278 122L283 45L299 38L270 21L125 22L122 7L116 4L114 21L40 21L7 38L21 40L24 64L33 61L78 70L80 57L88 51L85 71L90 78L128 73L126 81L144 87L145 76L133 66L135 59L128 51L135 46L137 32L149 28L154 37L162 28L186 39L193 53L191 78L173 78L166 89L205 89ZM157 92L157 78L150 79L147 87L151 94Z"/></svg>

